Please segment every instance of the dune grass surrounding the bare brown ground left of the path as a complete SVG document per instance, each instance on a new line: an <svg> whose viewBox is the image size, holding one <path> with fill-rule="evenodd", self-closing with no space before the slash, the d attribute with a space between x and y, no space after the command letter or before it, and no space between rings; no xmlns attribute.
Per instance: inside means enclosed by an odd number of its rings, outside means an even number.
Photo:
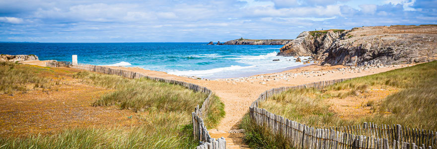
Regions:
<svg viewBox="0 0 437 149"><path fill-rule="evenodd" d="M3 67L9 69L9 65L7 63ZM0 69L5 69L3 67ZM21 65L20 71L5 75L32 74L34 70L31 66ZM197 104L202 105L208 95L146 78L129 79L90 72L70 75L80 83L114 90L96 97L92 106L118 106L136 111L140 113L142 124L114 128L66 128L55 135L30 135L26 138L0 137L0 149L190 149L198 145L193 137L191 112ZM51 83L50 79L38 73L29 78ZM37 81L22 82L21 86L26 86ZM220 99L214 95L210 100L210 110L205 119L209 128L215 127L224 117L224 105Z"/></svg>

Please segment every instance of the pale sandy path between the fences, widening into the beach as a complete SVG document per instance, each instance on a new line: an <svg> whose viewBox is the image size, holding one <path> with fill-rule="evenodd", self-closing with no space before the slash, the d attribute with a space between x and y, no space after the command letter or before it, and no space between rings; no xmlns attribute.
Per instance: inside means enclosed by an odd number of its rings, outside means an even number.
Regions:
<svg viewBox="0 0 437 149"><path fill-rule="evenodd" d="M44 61L36 62L21 62L23 64L31 64L31 65L45 65ZM227 133L230 130L236 129L238 122L242 119L244 114L246 114L249 110L250 104L265 90L282 87L282 86L293 86L304 83L316 82L321 80L331 80L331 79L339 79L339 78L351 78L364 76L369 74L377 74L390 70L394 70L400 67L383 67L376 68L367 71L355 71L355 72L330 72L327 74L323 74L321 76L313 76L313 74L309 75L297 75L288 77L289 80L274 80L273 78L277 77L267 77L270 75L280 75L285 73L301 73L301 72L327 72L331 70L335 70L338 68L346 68L344 66L333 66L333 67L321 67L318 65L311 65L302 68L292 69L281 73L273 73L273 74L259 74L254 76L263 75L263 78L255 78L255 79L247 79L247 81L234 81L234 80L198 80L192 79L182 76L176 76L172 74L167 74L164 72L157 71L149 71L144 70L142 68L133 68L133 67L111 67L118 68L123 70L135 71L138 73L142 73L149 76L162 77L167 79L175 79L186 82L195 83L201 86L205 86L213 90L218 97L220 97L221 101L224 103L224 111L226 112L225 117L220 121L218 127L216 129L211 129L210 133L213 138L224 137L226 138L226 144L228 149L245 149L245 146L242 143L243 134L229 134ZM269 81L261 80L271 78ZM251 81L252 80L252 81ZM260 82L266 82L266 84L260 84Z"/></svg>

